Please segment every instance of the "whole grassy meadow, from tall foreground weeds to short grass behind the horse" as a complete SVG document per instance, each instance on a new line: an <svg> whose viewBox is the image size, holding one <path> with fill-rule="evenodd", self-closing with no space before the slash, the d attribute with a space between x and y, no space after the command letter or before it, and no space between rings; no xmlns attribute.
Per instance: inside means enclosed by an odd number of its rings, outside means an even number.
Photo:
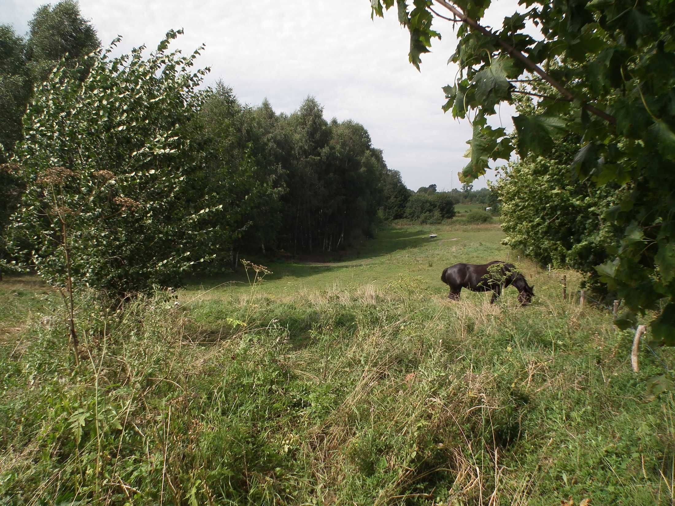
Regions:
<svg viewBox="0 0 675 506"><path fill-rule="evenodd" d="M5 279L0 505L672 504L674 399L647 382L674 354L634 373L578 275L502 237L400 225L124 308L83 292L78 367L57 293ZM447 300L446 266L507 258L531 306Z"/></svg>

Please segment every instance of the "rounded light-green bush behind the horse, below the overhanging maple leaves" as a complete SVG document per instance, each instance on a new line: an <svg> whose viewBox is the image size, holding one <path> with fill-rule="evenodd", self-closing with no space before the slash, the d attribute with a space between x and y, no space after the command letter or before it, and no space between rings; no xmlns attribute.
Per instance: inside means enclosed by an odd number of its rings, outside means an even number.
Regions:
<svg viewBox="0 0 675 506"><path fill-rule="evenodd" d="M546 157L531 154L510 163L491 190L502 202L505 244L540 264L577 269L603 289L595 266L616 241L616 225L605 215L620 192L616 185L597 188L588 179L569 179L575 140L558 142Z"/></svg>

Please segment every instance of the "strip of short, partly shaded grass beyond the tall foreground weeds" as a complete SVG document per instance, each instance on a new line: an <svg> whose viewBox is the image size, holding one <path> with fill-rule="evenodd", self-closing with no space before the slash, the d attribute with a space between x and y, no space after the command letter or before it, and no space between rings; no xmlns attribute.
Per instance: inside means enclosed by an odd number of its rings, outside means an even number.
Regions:
<svg viewBox="0 0 675 506"><path fill-rule="evenodd" d="M452 223L452 222L451 222ZM431 239L429 234L438 237ZM484 263L509 258L518 263L508 249L499 244L504 234L497 225L464 226L415 225L389 227L380 231L377 239L366 241L350 251L341 262L268 262L246 258L265 264L272 272L265 276L264 291L269 296L286 296L304 290L332 288L333 285L373 285L381 288L400 275L421 277L429 284L429 293L443 293L439 283L441 272L457 262ZM527 269L532 267L523 262ZM249 289L246 271L240 266L236 275L202 278L190 281L185 297L192 298L204 290L209 298L239 295ZM467 294L470 296L470 294Z"/></svg>

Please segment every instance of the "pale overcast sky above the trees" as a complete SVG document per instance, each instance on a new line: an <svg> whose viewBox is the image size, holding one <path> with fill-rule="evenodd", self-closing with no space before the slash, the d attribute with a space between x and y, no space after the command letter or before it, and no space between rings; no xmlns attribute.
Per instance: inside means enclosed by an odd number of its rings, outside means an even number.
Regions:
<svg viewBox="0 0 675 506"><path fill-rule="evenodd" d="M44 3L0 0L0 24L24 34ZM501 24L516 10L514 0L493 3L487 24ZM123 37L115 53L156 47L169 28L184 28L172 47L186 53L206 45L198 65L211 67L207 85L222 79L243 103L258 105L267 97L275 111L286 113L311 94L326 119L362 123L408 188L460 185L471 129L441 111L441 86L457 72L447 65L456 45L449 22L437 21L443 39L434 41L417 72L408 63L410 38L396 9L371 21L369 0L80 0L80 10L104 46ZM491 123L510 130L512 113L503 106ZM485 177L474 186L484 187Z"/></svg>

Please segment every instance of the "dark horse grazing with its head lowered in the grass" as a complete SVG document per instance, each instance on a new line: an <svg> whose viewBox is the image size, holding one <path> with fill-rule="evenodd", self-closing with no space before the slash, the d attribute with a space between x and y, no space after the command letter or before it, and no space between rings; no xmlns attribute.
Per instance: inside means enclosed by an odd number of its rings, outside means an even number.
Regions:
<svg viewBox="0 0 675 506"><path fill-rule="evenodd" d="M488 264L454 264L441 274L441 281L450 285L450 300L459 300L462 288L471 291L491 291L493 304L497 297L502 295L502 289L514 285L520 291L518 301L521 306L527 306L535 296L534 285L530 286L520 274L516 266L500 260Z"/></svg>

